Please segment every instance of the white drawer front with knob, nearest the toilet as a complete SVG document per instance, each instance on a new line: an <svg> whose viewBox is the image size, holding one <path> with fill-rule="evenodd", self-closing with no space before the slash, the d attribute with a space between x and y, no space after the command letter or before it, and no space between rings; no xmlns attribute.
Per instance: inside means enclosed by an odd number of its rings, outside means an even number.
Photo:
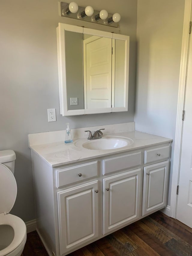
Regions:
<svg viewBox="0 0 192 256"><path fill-rule="evenodd" d="M65 168L56 171L56 186L60 188L70 183L89 179L98 175L98 161L86 164L79 164L75 167Z"/></svg>

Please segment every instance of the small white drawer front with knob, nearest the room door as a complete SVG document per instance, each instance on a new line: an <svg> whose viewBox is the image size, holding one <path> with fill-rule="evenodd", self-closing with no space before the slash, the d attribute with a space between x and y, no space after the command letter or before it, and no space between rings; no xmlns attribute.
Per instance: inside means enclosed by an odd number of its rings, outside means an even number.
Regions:
<svg viewBox="0 0 192 256"><path fill-rule="evenodd" d="M169 158L170 146L145 150L144 164Z"/></svg>

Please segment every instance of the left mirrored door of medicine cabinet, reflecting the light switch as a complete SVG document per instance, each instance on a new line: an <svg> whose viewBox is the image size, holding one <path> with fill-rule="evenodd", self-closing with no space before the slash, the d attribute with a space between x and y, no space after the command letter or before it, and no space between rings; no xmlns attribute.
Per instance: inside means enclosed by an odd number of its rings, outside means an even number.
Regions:
<svg viewBox="0 0 192 256"><path fill-rule="evenodd" d="M62 116L83 115L83 28L59 23L57 54L59 103Z"/></svg>

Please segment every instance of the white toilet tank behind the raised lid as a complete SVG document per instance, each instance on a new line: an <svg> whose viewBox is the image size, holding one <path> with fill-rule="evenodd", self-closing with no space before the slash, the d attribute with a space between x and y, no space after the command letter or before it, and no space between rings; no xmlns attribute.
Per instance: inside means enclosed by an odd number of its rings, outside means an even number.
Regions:
<svg viewBox="0 0 192 256"><path fill-rule="evenodd" d="M0 163L7 166L14 174L16 155L13 150L0 151Z"/></svg>

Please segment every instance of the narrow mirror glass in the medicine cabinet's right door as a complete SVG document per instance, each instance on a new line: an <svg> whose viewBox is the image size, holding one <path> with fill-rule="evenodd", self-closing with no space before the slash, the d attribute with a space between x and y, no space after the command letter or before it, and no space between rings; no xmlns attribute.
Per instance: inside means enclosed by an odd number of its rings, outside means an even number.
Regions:
<svg viewBox="0 0 192 256"><path fill-rule="evenodd" d="M112 39L112 107L125 106L125 41Z"/></svg>

